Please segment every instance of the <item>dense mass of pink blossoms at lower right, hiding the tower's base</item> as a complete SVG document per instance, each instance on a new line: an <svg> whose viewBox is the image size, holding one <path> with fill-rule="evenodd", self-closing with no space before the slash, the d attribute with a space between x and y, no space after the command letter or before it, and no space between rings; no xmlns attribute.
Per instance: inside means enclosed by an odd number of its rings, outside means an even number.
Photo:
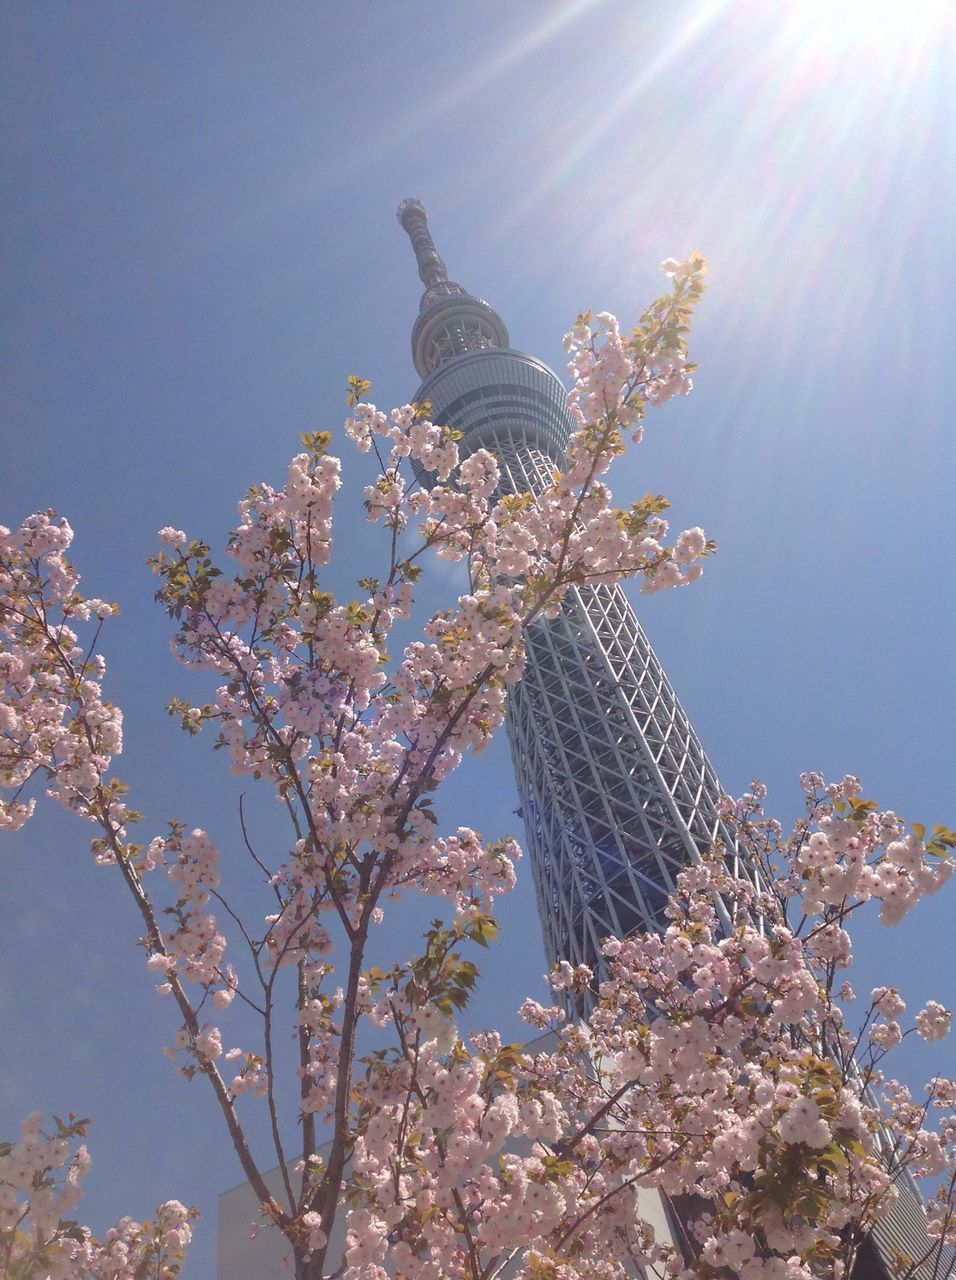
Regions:
<svg viewBox="0 0 956 1280"><path fill-rule="evenodd" d="M815 804L820 822L831 803L846 796ZM866 814L857 809L861 827ZM755 844L753 814L750 824ZM887 815L883 827L893 827ZM782 842L791 858L806 837L801 826ZM878 882L870 890L878 897ZM705 859L680 877L663 936L608 940L609 977L587 1025L522 1006L557 1048L493 1034L467 1046L447 1020L416 1018L403 974L393 975L386 1005L401 1051L370 1060L358 1085L365 1196L348 1219L349 1274L384 1275L386 1251L415 1276L467 1275L475 1251L482 1266L512 1260L529 1276L558 1258L563 1275L584 1274L576 1258L621 1276L633 1263L686 1277L717 1267L744 1280L842 1274L856 1239L848 1228L888 1210L904 1171L952 1169L956 1137L952 1084L930 1091L941 1112L930 1129L929 1102L916 1107L883 1080L829 992L842 959L814 943L859 902L791 927L786 895ZM552 975L559 992L593 980L567 963ZM900 1006L889 988L874 991L872 1011ZM920 1020L924 1034L948 1025L936 1004ZM882 1108L872 1096L880 1083ZM697 1219L692 1258L641 1225L640 1194L651 1188L713 1206ZM932 1248L956 1235L951 1192L937 1198Z"/></svg>

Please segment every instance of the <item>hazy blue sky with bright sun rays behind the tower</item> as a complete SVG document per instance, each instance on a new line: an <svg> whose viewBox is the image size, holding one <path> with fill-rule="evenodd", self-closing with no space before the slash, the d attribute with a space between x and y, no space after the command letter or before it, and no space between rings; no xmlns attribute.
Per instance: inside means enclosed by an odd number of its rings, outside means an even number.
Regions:
<svg viewBox="0 0 956 1280"><path fill-rule="evenodd" d="M102 648L145 836L202 826L247 874L238 780L164 712L207 686L169 655L145 559L164 525L221 547L244 489L283 483L298 433L339 428L349 372L383 407L412 397L406 196L452 278L559 371L580 308L630 324L662 259L708 256L695 390L610 483L622 503L668 494L673 525L721 552L692 588L637 596L641 621L728 791L759 776L792 820L802 769L848 771L907 819L956 824L956 5L20 0L0 15L0 521L56 507L87 593L122 604ZM328 585L349 598L386 548L361 508L367 460L337 442ZM454 586L439 572L435 599ZM274 851L275 805L250 787ZM449 828L520 835L516 804L502 737L439 808ZM241 1172L202 1082L160 1052L173 1005L88 838L47 806L0 844L0 1137L35 1108L93 1117L83 1220L197 1204L184 1275L202 1280L216 1196ZM522 869L465 1020L512 1038L544 973ZM955 904L860 920L857 991L895 980L911 1012L952 1005ZM386 922L399 956L411 915ZM227 1042L241 1027L224 1019ZM916 1047L914 1082L951 1069L951 1044Z"/></svg>

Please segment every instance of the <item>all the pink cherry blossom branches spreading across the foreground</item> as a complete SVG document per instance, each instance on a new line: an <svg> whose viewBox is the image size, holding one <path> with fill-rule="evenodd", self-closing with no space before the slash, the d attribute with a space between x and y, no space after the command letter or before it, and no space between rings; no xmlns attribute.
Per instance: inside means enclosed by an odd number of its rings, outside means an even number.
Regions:
<svg viewBox="0 0 956 1280"><path fill-rule="evenodd" d="M544 1039L458 1030L471 948L493 942L520 851L468 828L440 833L433 792L500 727L523 635L571 586L682 585L714 549L699 529L668 544L665 499L617 508L604 480L626 438L640 440L646 407L690 389L704 262L664 270L669 292L630 335L608 315L582 315L568 334L577 430L539 494L502 493L484 449L459 461L429 406L385 413L349 380L346 434L378 461L365 504L385 548L358 599L337 602L321 582L339 486L326 433L303 436L282 489L242 499L228 571L206 543L161 531L152 568L175 650L215 686L170 709L188 733L211 731L288 817L280 855L247 841L266 902L256 922L235 909L206 832L131 835L141 815L110 772L122 713L96 652L114 605L78 591L67 521L47 512L0 530L0 824L23 826L40 786L95 826L92 854L129 891L175 1010L166 1052L211 1089L301 1280L379 1280L386 1265L410 1280L506 1267L617 1280L635 1263L671 1277L836 1280L911 1175L937 1185L927 1257L956 1235L956 1085L937 1079L914 1101L884 1066L909 1033L896 989L855 1012L842 978L850 916L875 900L892 924L939 888L956 833L907 828L852 777L806 774L806 817L786 837L756 785L726 800L747 878L712 850L680 878L662 934L608 938L603 975L558 965L554 1004L522 1006ZM402 643L429 556L462 564L467 590ZM417 955L371 964L406 893L438 899L439 918ZM238 1007L255 1041L234 1043ZM915 1030L934 1039L950 1020L930 1002ZM275 1043L291 1025L297 1065L284 1079ZM269 1116L265 1157L247 1138L250 1107ZM174 1276L188 1211L171 1201L154 1222L125 1219L95 1240L64 1217L88 1161L72 1146L83 1123L41 1124L29 1117L0 1147L9 1274ZM276 1164L280 1194L264 1176ZM681 1252L655 1238L646 1194L690 1224ZM340 1219L344 1258L329 1245Z"/></svg>

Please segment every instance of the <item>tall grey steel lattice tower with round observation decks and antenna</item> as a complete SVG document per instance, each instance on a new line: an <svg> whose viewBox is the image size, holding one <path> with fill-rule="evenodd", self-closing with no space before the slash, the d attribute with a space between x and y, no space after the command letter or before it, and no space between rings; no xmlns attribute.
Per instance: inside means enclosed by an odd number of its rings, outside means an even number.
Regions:
<svg viewBox="0 0 956 1280"><path fill-rule="evenodd" d="M448 279L424 206L398 219L425 284L412 356L434 421L486 448L504 492L550 483L573 429L566 389L508 346L500 316ZM677 873L717 840L721 786L619 586L575 588L526 636L507 728L549 964L601 970L609 934L659 929Z"/></svg>

